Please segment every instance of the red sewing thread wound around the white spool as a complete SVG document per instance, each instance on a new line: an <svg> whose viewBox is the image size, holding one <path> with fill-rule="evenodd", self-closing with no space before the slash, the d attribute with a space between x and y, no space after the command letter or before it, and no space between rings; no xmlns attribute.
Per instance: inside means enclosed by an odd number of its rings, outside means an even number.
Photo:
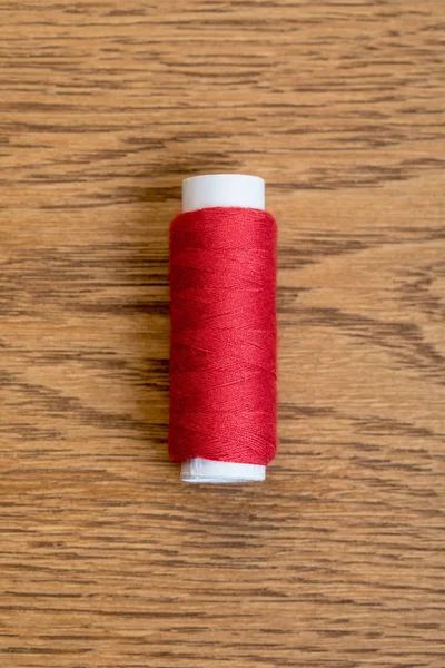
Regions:
<svg viewBox="0 0 445 668"><path fill-rule="evenodd" d="M171 223L174 461L274 459L276 236L258 209L206 208Z"/></svg>

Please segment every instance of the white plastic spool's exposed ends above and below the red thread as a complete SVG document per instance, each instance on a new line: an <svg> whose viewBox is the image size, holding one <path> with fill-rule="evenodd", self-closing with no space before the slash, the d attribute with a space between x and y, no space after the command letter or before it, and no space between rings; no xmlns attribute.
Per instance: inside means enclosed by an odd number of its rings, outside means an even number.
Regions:
<svg viewBox="0 0 445 668"><path fill-rule="evenodd" d="M211 174L194 176L182 181L182 212L211 206L240 206L265 209L265 181L245 174ZM196 458L182 462L185 482L250 482L263 481L266 466L237 462L217 462Z"/></svg>

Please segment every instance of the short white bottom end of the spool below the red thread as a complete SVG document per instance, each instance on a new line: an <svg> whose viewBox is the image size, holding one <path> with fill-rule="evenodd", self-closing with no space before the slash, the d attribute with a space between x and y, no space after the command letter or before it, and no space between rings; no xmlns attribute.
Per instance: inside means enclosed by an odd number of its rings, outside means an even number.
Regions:
<svg viewBox="0 0 445 668"><path fill-rule="evenodd" d="M266 466L215 462L196 458L181 464L184 482L261 482L266 479Z"/></svg>

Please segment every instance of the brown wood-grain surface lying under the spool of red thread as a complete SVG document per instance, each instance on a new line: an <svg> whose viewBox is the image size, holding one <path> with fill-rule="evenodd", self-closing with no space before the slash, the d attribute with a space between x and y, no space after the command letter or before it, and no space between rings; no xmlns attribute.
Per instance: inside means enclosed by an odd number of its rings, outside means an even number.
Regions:
<svg viewBox="0 0 445 668"><path fill-rule="evenodd" d="M445 666L443 0L0 2L0 666ZM278 458L166 450L181 179L279 222Z"/></svg>

